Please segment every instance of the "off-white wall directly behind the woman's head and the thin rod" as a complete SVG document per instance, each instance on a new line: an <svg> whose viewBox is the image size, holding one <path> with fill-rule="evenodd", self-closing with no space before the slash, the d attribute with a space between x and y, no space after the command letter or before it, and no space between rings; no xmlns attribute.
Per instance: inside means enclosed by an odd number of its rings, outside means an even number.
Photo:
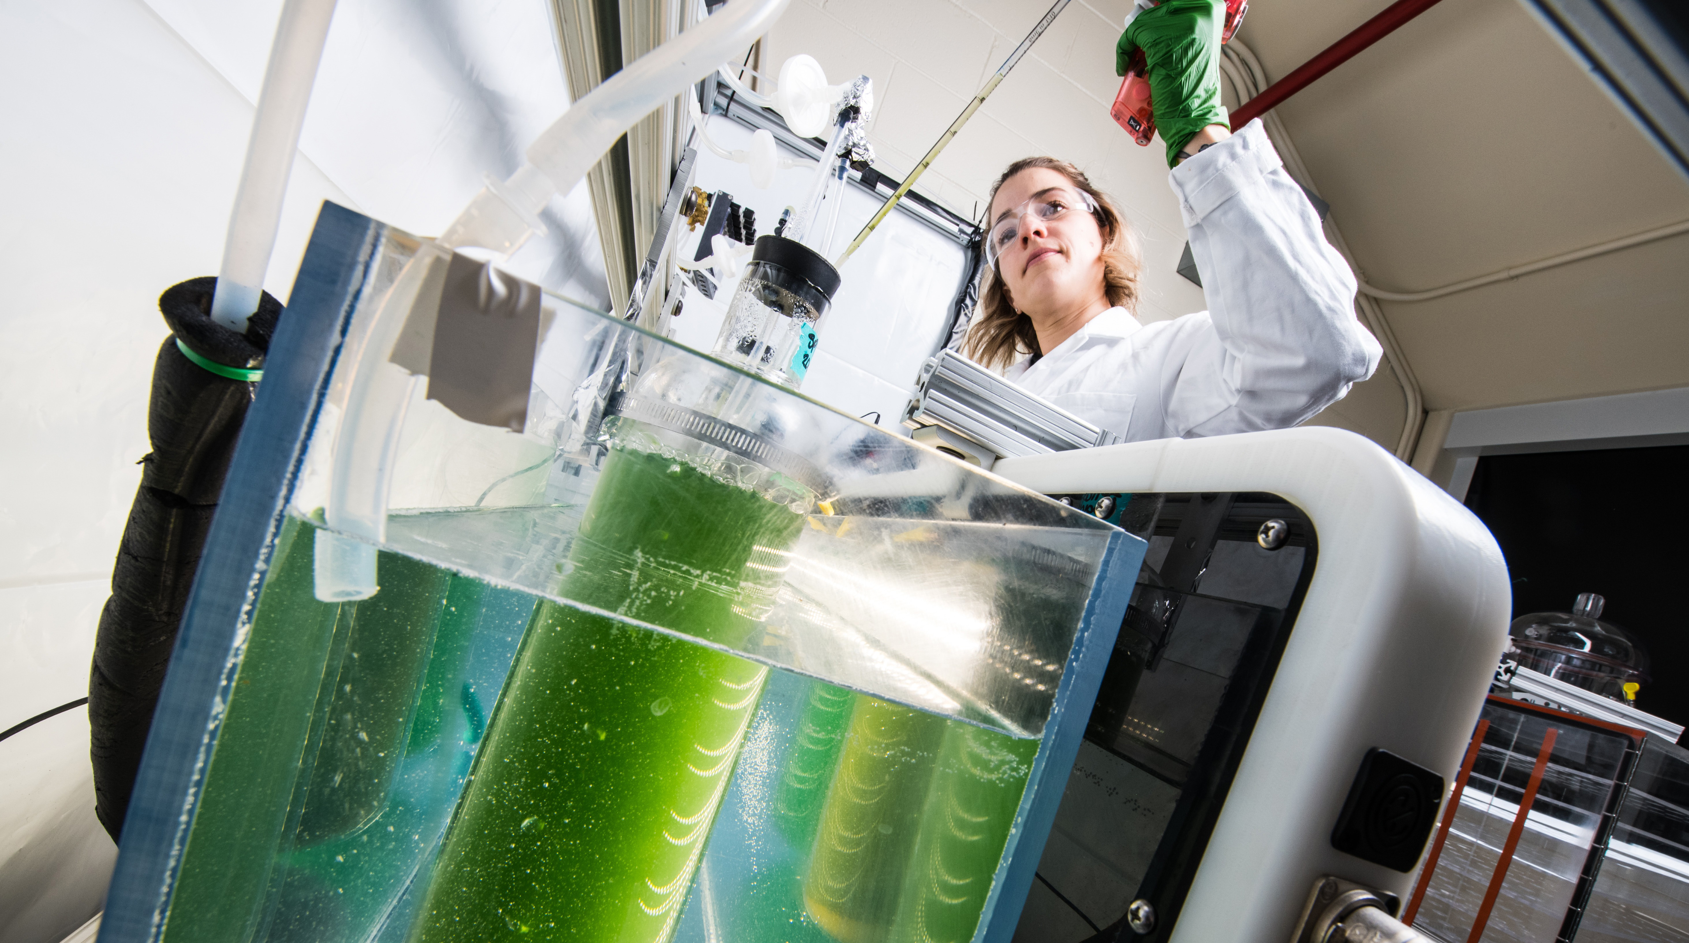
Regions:
<svg viewBox="0 0 1689 943"><path fill-rule="evenodd" d="M1160 142L1138 147L1108 116L1120 88L1115 39L1128 7L1069 3L917 186L978 219L1012 160L1051 155L1078 164L1142 233L1138 315L1165 321L1208 304L1174 272L1186 233ZM789 56L807 52L829 81L872 78L868 140L880 167L902 179L1047 10L1042 0L792 0L762 61L775 73Z"/></svg>

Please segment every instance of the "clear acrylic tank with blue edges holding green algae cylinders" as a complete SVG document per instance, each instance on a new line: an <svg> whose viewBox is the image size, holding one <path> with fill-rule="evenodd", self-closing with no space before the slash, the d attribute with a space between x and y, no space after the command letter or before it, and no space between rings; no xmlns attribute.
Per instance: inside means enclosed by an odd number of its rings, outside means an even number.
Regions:
<svg viewBox="0 0 1689 943"><path fill-rule="evenodd" d="M1143 547L326 206L101 940L1008 940Z"/></svg>

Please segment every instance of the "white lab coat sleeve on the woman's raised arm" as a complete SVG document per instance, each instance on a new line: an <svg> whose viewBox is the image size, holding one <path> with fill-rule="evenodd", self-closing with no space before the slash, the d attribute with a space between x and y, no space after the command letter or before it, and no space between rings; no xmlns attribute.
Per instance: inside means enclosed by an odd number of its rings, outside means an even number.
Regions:
<svg viewBox="0 0 1689 943"><path fill-rule="evenodd" d="M1355 275L1258 120L1170 181L1209 310L1181 319L1162 361L1165 435L1297 425L1371 376L1383 349L1355 317Z"/></svg>

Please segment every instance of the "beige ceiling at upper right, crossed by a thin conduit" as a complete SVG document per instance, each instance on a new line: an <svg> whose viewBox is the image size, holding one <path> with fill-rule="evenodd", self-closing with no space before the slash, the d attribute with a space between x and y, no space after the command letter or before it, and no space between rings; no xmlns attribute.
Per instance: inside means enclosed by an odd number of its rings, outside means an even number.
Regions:
<svg viewBox="0 0 1689 943"><path fill-rule="evenodd" d="M1267 0L1277 79L1387 7ZM1689 219L1689 182L1515 0L1442 0L1279 108L1368 283L1434 288ZM1382 302L1426 407L1689 385L1689 236Z"/></svg>

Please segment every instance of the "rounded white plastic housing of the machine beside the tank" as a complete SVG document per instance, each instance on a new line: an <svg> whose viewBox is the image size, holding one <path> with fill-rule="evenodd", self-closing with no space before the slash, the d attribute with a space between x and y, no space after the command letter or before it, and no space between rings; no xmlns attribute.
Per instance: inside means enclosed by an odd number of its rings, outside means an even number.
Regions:
<svg viewBox="0 0 1689 943"><path fill-rule="evenodd" d="M1331 847L1371 747L1454 781L1512 595L1483 523L1360 435L1306 427L1002 459L1045 494L1267 491L1319 557L1172 943L1282 943L1319 876L1402 899L1414 874Z"/></svg>

